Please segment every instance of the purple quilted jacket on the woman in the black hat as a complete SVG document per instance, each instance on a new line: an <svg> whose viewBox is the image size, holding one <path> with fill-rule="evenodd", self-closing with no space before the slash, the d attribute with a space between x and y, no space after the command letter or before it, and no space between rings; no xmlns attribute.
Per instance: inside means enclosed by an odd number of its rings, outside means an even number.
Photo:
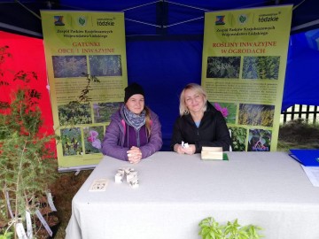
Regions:
<svg viewBox="0 0 319 239"><path fill-rule="evenodd" d="M142 159L151 156L154 152L160 150L163 142L161 137L161 126L159 117L156 113L151 112L151 136L148 143L139 147L142 151ZM125 140L125 120L121 117L120 110L115 112L111 117L110 124L106 127L105 137L102 143L102 153L113 158L128 161L127 147L123 147Z"/></svg>

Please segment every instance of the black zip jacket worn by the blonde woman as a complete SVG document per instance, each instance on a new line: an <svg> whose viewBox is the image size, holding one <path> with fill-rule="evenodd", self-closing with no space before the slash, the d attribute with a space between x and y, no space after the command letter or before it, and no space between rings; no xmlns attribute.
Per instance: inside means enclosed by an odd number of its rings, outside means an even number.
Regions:
<svg viewBox="0 0 319 239"><path fill-rule="evenodd" d="M207 102L207 109L199 127L195 125L191 114L178 117L173 128L171 150L175 143L195 144L196 153L200 153L202 146L222 147L222 150L230 150L230 131L222 113L217 111L212 104Z"/></svg>

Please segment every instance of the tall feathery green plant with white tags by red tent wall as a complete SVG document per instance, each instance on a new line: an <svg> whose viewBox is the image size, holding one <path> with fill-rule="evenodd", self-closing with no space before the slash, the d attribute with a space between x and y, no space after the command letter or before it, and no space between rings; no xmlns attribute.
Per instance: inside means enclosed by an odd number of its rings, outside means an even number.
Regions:
<svg viewBox="0 0 319 239"><path fill-rule="evenodd" d="M55 135L40 133L41 94L28 84L37 81L37 74L21 70L6 80L1 66L10 57L9 47L0 47L0 90L11 91L12 81L19 81L11 99L0 101L0 238L17 238L25 228L27 235L36 237L40 198L56 175L54 152L48 147Z"/></svg>

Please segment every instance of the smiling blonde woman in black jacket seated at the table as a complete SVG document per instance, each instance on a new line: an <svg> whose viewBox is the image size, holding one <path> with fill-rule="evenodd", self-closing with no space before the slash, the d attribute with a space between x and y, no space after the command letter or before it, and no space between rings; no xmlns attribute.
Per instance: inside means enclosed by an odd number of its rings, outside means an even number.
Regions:
<svg viewBox="0 0 319 239"><path fill-rule="evenodd" d="M180 117L175 121L171 150L181 154L200 153L203 146L230 150L230 131L222 113L207 101L198 84L188 84L180 96ZM187 143L188 147L183 147Z"/></svg>

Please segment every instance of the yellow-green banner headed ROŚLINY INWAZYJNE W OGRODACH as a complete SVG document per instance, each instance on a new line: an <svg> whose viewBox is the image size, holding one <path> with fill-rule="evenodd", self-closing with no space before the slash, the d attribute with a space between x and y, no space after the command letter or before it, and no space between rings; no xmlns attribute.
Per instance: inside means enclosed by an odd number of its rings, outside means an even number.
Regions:
<svg viewBox="0 0 319 239"><path fill-rule="evenodd" d="M292 5L206 12L201 84L232 150L275 151Z"/></svg>

